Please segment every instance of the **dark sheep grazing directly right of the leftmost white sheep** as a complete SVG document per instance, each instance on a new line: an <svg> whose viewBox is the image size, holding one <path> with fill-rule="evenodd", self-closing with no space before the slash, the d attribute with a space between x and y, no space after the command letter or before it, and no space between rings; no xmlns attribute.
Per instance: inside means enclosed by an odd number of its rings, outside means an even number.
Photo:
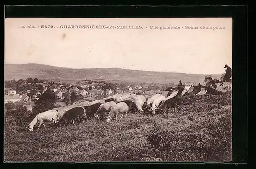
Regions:
<svg viewBox="0 0 256 169"><path fill-rule="evenodd" d="M70 122L72 120L74 124L74 118L81 117L82 121L84 123L83 119L86 119L88 121L87 116L86 116L86 109L84 107L74 107L68 111L65 112L65 114L62 116L62 118L59 120L59 124L66 124L67 122Z"/></svg>

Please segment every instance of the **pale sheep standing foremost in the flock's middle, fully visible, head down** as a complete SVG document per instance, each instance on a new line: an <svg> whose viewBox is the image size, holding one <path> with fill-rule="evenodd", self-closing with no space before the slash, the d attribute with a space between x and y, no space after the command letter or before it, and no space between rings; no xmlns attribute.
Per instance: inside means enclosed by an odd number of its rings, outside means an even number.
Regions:
<svg viewBox="0 0 256 169"><path fill-rule="evenodd" d="M129 107L126 103L124 102L120 102L117 103L115 106L113 106L108 114L108 117L106 117L106 122L110 122L110 120L115 116L116 120L117 120L117 116L119 114L122 114L121 118L123 117L123 115L126 115L126 118L128 117L128 110Z"/></svg>

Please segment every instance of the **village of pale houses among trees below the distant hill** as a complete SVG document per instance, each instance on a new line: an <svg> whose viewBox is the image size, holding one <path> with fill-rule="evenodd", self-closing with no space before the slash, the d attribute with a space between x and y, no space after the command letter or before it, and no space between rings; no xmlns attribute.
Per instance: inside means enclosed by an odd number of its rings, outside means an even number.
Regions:
<svg viewBox="0 0 256 169"><path fill-rule="evenodd" d="M54 92L56 103L54 107L64 107L68 104L65 100L70 98L73 94L76 100L94 101L102 99L114 94L131 93L137 95L153 95L162 94L167 96L170 90L175 89L175 84L120 84L120 83L107 83L104 80L82 80L83 83L78 81L76 84L71 85L61 81L51 80L38 80L37 78L27 78L26 80L11 80L5 81L5 103L22 103L27 110L32 111L35 102L40 98L41 94L47 90ZM185 89L191 86L198 85L196 83L183 83ZM200 84L199 84L200 85Z"/></svg>

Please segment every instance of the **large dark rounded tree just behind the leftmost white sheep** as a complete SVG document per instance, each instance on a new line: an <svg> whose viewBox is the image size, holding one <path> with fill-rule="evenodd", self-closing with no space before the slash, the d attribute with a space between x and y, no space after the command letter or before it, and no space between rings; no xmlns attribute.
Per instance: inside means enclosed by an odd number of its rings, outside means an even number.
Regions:
<svg viewBox="0 0 256 169"><path fill-rule="evenodd" d="M51 110L54 108L55 103L56 103L55 93L47 89L46 92L41 94L39 96L39 99L35 102L33 112L38 114L47 110Z"/></svg>

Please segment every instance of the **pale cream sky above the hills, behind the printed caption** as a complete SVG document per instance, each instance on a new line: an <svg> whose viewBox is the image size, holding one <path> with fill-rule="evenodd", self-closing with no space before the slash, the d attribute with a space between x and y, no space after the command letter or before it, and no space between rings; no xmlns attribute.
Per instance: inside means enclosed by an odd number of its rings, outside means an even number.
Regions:
<svg viewBox="0 0 256 169"><path fill-rule="evenodd" d="M143 29L57 28L61 25L140 25ZM7 18L4 59L7 64L222 74L225 64L232 67L232 18Z"/></svg>

